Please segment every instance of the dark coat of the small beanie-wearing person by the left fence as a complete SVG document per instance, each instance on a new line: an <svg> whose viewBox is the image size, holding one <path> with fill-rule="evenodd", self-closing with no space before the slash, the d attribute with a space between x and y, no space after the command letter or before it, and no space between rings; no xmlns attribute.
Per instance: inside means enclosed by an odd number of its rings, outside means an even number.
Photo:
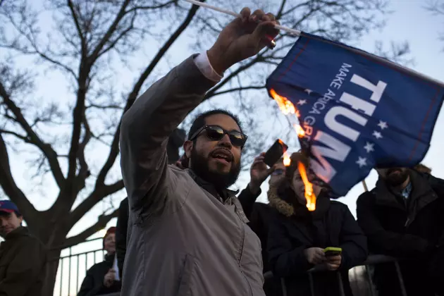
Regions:
<svg viewBox="0 0 444 296"><path fill-rule="evenodd" d="M104 261L94 264L88 269L80 286L78 296L94 296L119 292L121 290L121 282L118 280L114 281L109 288L104 285L104 277L109 269L113 267L113 263L114 255L106 255Z"/></svg>

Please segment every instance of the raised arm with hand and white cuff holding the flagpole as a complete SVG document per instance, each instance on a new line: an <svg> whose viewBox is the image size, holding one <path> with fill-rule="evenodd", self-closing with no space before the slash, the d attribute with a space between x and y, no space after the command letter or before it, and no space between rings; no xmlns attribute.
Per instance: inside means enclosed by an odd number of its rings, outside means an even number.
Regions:
<svg viewBox="0 0 444 296"><path fill-rule="evenodd" d="M222 30L209 51L173 68L123 116L121 169L130 210L161 211L168 188L168 136L221 79L221 73L263 49L268 42L266 35L278 34L274 29L278 22L271 14L259 10L251 14L248 8L240 14Z"/></svg>

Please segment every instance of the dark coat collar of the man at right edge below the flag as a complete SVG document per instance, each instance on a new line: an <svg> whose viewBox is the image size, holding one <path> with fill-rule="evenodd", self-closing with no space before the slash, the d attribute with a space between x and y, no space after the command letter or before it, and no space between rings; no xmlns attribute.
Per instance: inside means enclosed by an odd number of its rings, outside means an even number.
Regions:
<svg viewBox="0 0 444 296"><path fill-rule="evenodd" d="M438 198L431 185L428 184L428 181L421 177L419 173L411 170L409 171L409 177L410 184L412 185L412 192L410 193L408 202L409 209L407 209L407 206L405 206L403 202L400 202L404 199L401 192L391 190L381 178L376 183L375 189L372 190L376 195L376 204L409 211L411 210L411 206L417 204L416 211L419 211Z"/></svg>

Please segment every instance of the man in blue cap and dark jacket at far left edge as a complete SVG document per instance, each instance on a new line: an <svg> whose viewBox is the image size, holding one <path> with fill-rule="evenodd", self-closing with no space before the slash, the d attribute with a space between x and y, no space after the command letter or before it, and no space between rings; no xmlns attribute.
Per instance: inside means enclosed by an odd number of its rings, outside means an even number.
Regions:
<svg viewBox="0 0 444 296"><path fill-rule="evenodd" d="M0 295L41 296L47 249L22 222L16 204L0 200Z"/></svg>

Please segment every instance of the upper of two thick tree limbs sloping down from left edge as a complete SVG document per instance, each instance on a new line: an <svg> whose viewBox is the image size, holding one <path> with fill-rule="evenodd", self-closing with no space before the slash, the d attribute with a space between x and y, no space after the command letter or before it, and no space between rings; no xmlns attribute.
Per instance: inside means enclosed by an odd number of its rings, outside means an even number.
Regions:
<svg viewBox="0 0 444 296"><path fill-rule="evenodd" d="M65 183L65 178L63 177L63 173L61 171L60 164L58 163L57 153L54 149L51 148L50 144L43 142L39 136L32 130L29 123L27 123L23 113L20 111L20 108L12 101L9 97L9 94L6 92L4 85L0 82L0 97L3 97L4 104L8 107L9 110L16 116L14 121L16 121L27 133L27 139L29 143L34 144L36 147L42 151L44 156L48 159L49 166L51 168L52 175L54 175L54 180L59 188L63 187Z"/></svg>

